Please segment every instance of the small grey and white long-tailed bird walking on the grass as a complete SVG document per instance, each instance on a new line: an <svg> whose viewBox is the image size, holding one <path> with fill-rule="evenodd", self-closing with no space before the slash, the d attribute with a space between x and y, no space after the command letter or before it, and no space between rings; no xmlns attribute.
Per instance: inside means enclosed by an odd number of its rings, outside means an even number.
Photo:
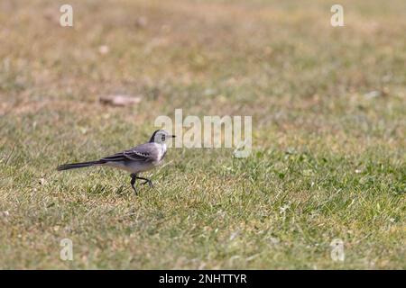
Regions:
<svg viewBox="0 0 406 288"><path fill-rule="evenodd" d="M148 143L124 150L112 156L103 157L96 161L64 164L58 166L57 170L62 171L88 166L110 166L123 169L131 173L130 183L134 192L137 193L134 186L136 179L144 180L143 184L149 184L150 187L153 187L150 179L138 175L162 164L163 157L166 155L166 140L174 137L175 135L170 135L166 130L156 130L153 132Z"/></svg>

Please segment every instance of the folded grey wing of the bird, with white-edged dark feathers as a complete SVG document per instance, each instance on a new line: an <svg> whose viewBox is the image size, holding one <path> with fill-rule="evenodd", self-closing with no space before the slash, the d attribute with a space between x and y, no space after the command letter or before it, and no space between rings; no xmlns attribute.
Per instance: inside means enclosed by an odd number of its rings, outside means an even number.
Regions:
<svg viewBox="0 0 406 288"><path fill-rule="evenodd" d="M115 155L103 157L100 160L106 162L115 162L115 161L143 161L151 162L157 159L158 149L154 143L145 143L123 152L115 153Z"/></svg>

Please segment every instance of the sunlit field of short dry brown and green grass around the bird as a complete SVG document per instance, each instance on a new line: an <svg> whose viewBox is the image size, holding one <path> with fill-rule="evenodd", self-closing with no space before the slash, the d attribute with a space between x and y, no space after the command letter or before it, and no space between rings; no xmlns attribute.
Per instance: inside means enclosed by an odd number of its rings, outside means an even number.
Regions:
<svg viewBox="0 0 406 288"><path fill-rule="evenodd" d="M406 2L340 0L333 28L336 3L1 1L0 268L405 269ZM252 154L171 148L138 196L55 170L176 108L253 116Z"/></svg>

